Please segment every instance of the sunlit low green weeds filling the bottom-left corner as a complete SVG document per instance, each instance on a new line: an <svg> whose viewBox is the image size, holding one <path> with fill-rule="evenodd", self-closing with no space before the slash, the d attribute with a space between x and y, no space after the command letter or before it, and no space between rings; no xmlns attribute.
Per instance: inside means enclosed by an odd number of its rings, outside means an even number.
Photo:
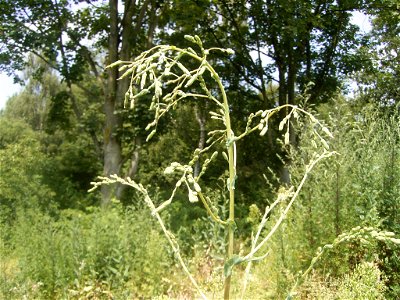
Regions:
<svg viewBox="0 0 400 300"><path fill-rule="evenodd" d="M12 242L1 249L0 298L94 296L127 299L166 293L171 257L142 209L65 210L54 219L18 213Z"/></svg>

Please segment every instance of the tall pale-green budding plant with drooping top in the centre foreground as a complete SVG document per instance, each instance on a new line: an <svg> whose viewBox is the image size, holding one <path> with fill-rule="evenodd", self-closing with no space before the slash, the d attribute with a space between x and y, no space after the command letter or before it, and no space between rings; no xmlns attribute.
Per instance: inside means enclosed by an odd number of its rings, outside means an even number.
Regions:
<svg viewBox="0 0 400 300"><path fill-rule="evenodd" d="M93 182L93 189L102 184L121 183L134 188L143 195L144 201L151 210L152 215L160 224L168 242L170 243L176 258L180 262L183 270L188 275L193 286L196 288L200 296L206 299L205 293L201 290L201 286L196 282L194 276L189 272L184 260L179 252L179 245L174 235L167 229L160 211L166 209L174 200L174 196L178 189L186 189L188 201L191 203L200 201L213 222L223 225L227 230L227 250L224 264L224 298L229 299L231 290L232 270L235 265L247 263L245 278L242 280L243 286L241 296L244 296L247 278L250 274L251 263L266 257L265 245L271 236L279 228L284 221L292 204L296 200L299 192L304 185L307 175L313 167L322 159L333 154L328 151L326 138L331 137L329 130L320 123L312 114L306 112L302 108L294 105L283 105L268 110L260 110L252 113L247 118L247 126L244 132L235 133L232 128L230 117L230 106L221 78L210 63L209 56L213 52L222 52L226 55L234 55L231 49L210 48L204 49L203 44L198 36L185 36L185 38L193 43L193 48L178 48L170 45L156 46L148 51L143 52L132 62L117 61L109 66L109 68L119 66L120 72L123 72L121 78L130 77L130 86L125 97L125 106L131 109L135 107L135 103L145 95L152 95L149 110L154 112L154 119L147 125L146 130L150 131L147 140L151 139L157 132L159 120L168 112L180 105L184 100L193 101L209 101L213 105L209 111L211 119L217 120L219 126L208 132L208 140L204 148L196 149L193 152L189 162L172 162L164 171L165 174L179 174L171 196L160 205L156 205L150 197L148 190L140 183L130 178L121 178L117 175L110 177L100 177L99 182ZM189 67L195 66L195 67ZM144 98L144 97L143 97ZM261 137L268 131L269 120L273 116L278 116L280 111L285 111L286 116L281 120L279 130L283 131L283 141L285 145L289 144L289 131L292 126L289 122L304 117L311 123L314 132L315 143L319 145L318 149L322 149L319 153L315 152L312 159L308 162L304 177L297 186L290 186L281 189L277 200L265 209L264 216L257 228L257 232L252 238L251 249L246 255L237 255L234 253L235 243L235 185L238 180L236 176L236 156L238 141L244 139L252 133L258 133ZM219 153L217 149L223 145L224 151ZM202 157L208 154L208 158L202 161L200 172L195 175L193 172L194 165ZM227 178L227 189L229 192L229 214L226 220L223 220L218 211L212 207L212 201L202 188L202 176L207 172L207 167L213 161L223 158L227 163L229 176ZM265 225L267 216L278 205L284 205L279 218L271 227L268 233L265 233Z"/></svg>

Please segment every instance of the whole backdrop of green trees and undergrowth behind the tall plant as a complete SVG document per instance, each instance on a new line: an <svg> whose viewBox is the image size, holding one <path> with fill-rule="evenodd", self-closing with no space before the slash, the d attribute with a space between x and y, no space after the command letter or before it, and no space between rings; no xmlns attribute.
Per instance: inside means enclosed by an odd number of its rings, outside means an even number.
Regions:
<svg viewBox="0 0 400 300"><path fill-rule="evenodd" d="M209 57L233 131L244 131L252 112L296 105L329 128L337 152L308 176L268 257L254 262L245 298L285 298L310 263L300 299L400 296L398 240L371 233L400 233L397 1L1 0L0 12L1 71L24 84L0 114L0 297L198 296L139 194L125 185L88 193L97 176L117 174L162 203L176 182L164 170L207 147L212 104L183 102L146 142L151 97L125 108L129 80L106 69L155 45L194 47L187 34L234 50ZM371 31L352 24L354 12L370 18ZM236 253L251 247L265 207L301 181L316 151L313 128L296 120L285 145L284 116L262 139L237 144ZM210 158L202 155L194 174ZM225 169L218 158L201 178L224 219ZM207 297L219 299L227 232L187 196L178 190L162 216ZM239 287L233 282L234 294Z"/></svg>

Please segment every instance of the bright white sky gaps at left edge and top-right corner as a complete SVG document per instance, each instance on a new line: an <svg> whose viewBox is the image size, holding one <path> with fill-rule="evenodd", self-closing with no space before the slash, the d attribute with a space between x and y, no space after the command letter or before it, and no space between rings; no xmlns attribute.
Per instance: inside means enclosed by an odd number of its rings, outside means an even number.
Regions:
<svg viewBox="0 0 400 300"><path fill-rule="evenodd" d="M366 15L360 12L354 12L352 22L358 25L361 30L367 32L371 29L371 23ZM14 94L22 90L21 85L14 84L12 77L0 73L0 110L2 110L7 100Z"/></svg>

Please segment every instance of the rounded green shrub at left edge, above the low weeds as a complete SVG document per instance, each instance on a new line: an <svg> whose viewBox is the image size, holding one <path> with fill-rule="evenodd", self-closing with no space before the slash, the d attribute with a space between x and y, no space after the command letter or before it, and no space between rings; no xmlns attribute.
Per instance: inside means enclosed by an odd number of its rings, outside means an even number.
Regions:
<svg viewBox="0 0 400 300"><path fill-rule="evenodd" d="M20 120L0 118L0 222L12 224L18 209L54 208L55 193L45 182L47 157L38 133Z"/></svg>

